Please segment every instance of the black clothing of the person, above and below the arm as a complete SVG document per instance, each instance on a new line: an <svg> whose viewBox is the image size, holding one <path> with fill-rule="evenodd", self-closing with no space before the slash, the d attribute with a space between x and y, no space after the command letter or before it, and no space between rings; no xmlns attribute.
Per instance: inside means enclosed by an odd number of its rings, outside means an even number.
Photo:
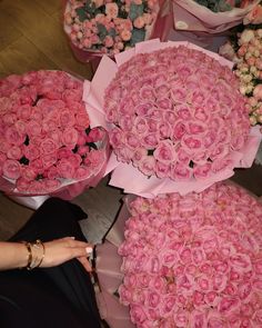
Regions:
<svg viewBox="0 0 262 328"><path fill-rule="evenodd" d="M10 241L49 241L73 236L85 240L75 205L50 198ZM100 327L89 274L73 259L61 266L0 272L0 327Z"/></svg>

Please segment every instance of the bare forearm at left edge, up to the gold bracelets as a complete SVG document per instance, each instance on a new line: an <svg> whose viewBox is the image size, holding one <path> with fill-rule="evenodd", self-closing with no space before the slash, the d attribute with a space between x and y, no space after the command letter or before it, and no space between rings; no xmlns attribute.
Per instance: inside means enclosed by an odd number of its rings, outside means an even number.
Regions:
<svg viewBox="0 0 262 328"><path fill-rule="evenodd" d="M21 242L0 241L0 270L27 267L28 249Z"/></svg>

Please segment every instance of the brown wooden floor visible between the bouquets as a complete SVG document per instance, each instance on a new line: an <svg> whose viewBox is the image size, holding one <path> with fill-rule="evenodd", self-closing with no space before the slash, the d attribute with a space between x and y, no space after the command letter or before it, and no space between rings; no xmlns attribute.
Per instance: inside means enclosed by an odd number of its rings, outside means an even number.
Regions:
<svg viewBox="0 0 262 328"><path fill-rule="evenodd" d="M38 69L60 69L91 79L89 63L73 57L62 30L61 0L0 0L0 78ZM262 166L235 170L233 180L262 196ZM73 202L88 213L83 229L92 242L100 242L120 208L122 193L104 178ZM0 240L8 239L32 210L0 193Z"/></svg>

